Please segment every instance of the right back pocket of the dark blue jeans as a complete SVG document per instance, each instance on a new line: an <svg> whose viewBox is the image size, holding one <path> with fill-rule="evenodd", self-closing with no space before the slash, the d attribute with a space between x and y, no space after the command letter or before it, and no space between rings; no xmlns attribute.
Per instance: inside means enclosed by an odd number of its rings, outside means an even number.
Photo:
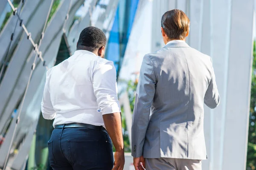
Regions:
<svg viewBox="0 0 256 170"><path fill-rule="evenodd" d="M99 140L67 140L73 164L81 167L97 165L98 143Z"/></svg>

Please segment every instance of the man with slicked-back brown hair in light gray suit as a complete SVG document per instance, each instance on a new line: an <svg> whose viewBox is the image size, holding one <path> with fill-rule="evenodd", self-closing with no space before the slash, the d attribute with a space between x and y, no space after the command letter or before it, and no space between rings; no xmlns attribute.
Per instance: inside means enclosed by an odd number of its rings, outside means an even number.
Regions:
<svg viewBox="0 0 256 170"><path fill-rule="evenodd" d="M220 97L211 57L185 42L189 24L183 11L167 11L166 46L143 58L132 123L136 170L141 163L146 170L201 170L207 159L204 103L215 108Z"/></svg>

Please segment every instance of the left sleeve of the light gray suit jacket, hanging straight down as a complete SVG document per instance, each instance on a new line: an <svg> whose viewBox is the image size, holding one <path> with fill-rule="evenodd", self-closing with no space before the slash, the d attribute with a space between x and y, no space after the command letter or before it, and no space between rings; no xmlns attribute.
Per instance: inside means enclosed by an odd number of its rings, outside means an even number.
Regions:
<svg viewBox="0 0 256 170"><path fill-rule="evenodd" d="M131 129L132 156L143 155L143 145L154 99L156 76L151 58L146 54L140 68Z"/></svg>

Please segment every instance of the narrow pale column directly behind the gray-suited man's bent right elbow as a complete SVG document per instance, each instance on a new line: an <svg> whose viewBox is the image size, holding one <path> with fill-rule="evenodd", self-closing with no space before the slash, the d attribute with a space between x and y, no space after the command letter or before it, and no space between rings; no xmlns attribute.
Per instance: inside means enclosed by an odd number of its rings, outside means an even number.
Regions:
<svg viewBox="0 0 256 170"><path fill-rule="evenodd" d="M230 40L230 6L231 0L210 0L210 56L215 71L218 91L221 96L220 105L206 114L211 116L211 161L210 170L221 170L221 153L224 136L225 101L227 94L228 51ZM221 18L221 19L220 19Z"/></svg>

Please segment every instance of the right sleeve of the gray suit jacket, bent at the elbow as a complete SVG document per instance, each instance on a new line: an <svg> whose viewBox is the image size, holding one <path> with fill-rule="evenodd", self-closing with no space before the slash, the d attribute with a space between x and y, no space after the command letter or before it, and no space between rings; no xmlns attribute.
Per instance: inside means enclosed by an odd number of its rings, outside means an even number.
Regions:
<svg viewBox="0 0 256 170"><path fill-rule="evenodd" d="M212 67L212 79L209 82L209 86L204 96L204 103L211 109L216 108L220 103L220 95L218 93L218 88L215 80L213 67Z"/></svg>

